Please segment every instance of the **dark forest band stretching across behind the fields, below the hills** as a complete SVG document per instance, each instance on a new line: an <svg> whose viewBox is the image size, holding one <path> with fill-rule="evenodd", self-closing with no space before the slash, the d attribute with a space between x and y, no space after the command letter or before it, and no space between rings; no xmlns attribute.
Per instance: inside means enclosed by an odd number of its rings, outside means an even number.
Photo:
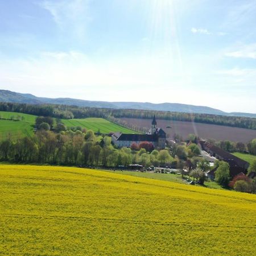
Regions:
<svg viewBox="0 0 256 256"><path fill-rule="evenodd" d="M0 102L0 111L19 112L65 119L86 117L128 117L151 119L154 115L156 115L158 119L209 123L214 125L224 125L256 130L256 118L233 117L226 115L193 114L135 109L107 109L89 107L81 108L78 106L68 105L32 105L9 102Z"/></svg>

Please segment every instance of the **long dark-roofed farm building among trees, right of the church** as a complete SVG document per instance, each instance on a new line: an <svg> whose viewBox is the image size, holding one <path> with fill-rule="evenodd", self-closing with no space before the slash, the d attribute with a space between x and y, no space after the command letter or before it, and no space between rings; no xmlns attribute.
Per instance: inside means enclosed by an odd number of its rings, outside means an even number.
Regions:
<svg viewBox="0 0 256 256"><path fill-rule="evenodd" d="M249 163L246 162L245 160L242 160L237 156L234 156L229 152L222 150L220 147L217 147L209 142L200 141L200 146L204 151L207 151L210 155L214 156L218 160L222 160L229 163L229 171L231 177L234 177L240 174L241 172L243 174L247 173ZM215 171L216 170L210 171L208 175L214 178Z"/></svg>

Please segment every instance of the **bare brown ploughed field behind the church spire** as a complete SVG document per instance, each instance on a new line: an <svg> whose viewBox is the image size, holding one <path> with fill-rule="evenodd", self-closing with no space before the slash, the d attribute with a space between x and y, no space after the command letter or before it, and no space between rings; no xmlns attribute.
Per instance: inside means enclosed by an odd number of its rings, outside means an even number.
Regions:
<svg viewBox="0 0 256 256"><path fill-rule="evenodd" d="M151 119L139 118L120 118L127 123L133 123L139 127L150 129ZM183 138L187 138L188 134L194 133L202 139L216 139L217 141L234 141L247 143L251 139L256 138L256 130L243 129L237 127L209 125L207 123L192 123L183 121L170 121L156 119L158 127L162 128L167 137L173 137L174 134L179 134ZM171 128L167 128L170 126Z"/></svg>

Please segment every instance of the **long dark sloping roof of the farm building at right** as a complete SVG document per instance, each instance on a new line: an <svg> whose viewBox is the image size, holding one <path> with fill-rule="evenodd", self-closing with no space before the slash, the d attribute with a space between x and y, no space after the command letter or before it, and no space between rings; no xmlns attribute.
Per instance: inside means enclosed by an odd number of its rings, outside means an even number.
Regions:
<svg viewBox="0 0 256 256"><path fill-rule="evenodd" d="M249 167L249 163L245 160L242 160L241 158L238 158L237 156L234 156L230 154L229 152L222 150L220 147L217 147L209 142L200 141L200 144L203 148L203 150L210 150L214 152L214 154L221 156L226 162L229 162L230 166L238 166L241 168L247 169Z"/></svg>

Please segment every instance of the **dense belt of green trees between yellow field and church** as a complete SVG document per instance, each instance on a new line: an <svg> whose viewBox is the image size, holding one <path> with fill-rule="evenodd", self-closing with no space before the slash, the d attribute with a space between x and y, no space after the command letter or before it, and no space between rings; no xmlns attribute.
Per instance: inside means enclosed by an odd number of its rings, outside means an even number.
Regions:
<svg viewBox="0 0 256 256"><path fill-rule="evenodd" d="M168 150L153 150L147 143L136 150L115 148L110 137L96 137L93 131L76 130L55 133L40 129L31 138L6 138L0 142L0 160L12 163L60 164L65 166L92 166L117 168L129 164L171 165L173 158Z"/></svg>

